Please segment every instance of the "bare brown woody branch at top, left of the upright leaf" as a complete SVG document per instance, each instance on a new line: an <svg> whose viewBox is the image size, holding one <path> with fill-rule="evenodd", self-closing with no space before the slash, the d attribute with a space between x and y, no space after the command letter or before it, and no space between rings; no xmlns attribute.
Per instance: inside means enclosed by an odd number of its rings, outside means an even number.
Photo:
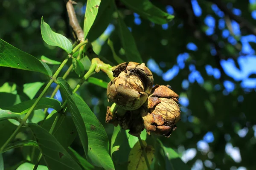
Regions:
<svg viewBox="0 0 256 170"><path fill-rule="evenodd" d="M84 41L84 31L82 30L77 20L76 12L73 7L73 4L76 4L76 2L72 0L67 1L67 4L66 4L68 17L70 20L70 26L73 28L73 31L75 32L77 39L80 42L82 42Z"/></svg>

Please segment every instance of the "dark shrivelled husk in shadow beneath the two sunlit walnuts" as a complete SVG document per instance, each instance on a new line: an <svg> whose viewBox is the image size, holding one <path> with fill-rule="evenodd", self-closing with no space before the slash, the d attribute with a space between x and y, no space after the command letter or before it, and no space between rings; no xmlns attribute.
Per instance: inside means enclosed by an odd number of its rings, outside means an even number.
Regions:
<svg viewBox="0 0 256 170"><path fill-rule="evenodd" d="M122 110L122 109L121 109ZM124 114L118 114L120 110L117 109L112 113L111 107L108 106L106 114L106 123L112 123L114 126L120 125L124 130L129 129L129 134L133 136L140 136L144 130L143 119L140 110L124 111Z"/></svg>

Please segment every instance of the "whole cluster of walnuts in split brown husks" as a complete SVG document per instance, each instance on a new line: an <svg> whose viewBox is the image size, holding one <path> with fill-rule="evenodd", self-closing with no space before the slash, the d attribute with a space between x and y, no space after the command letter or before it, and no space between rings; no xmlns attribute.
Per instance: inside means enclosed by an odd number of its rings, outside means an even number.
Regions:
<svg viewBox="0 0 256 170"><path fill-rule="evenodd" d="M180 120L179 96L169 85L154 85L153 75L144 63L125 62L113 69L113 81L108 83L106 122L129 129L140 136L146 129L150 135L169 137Z"/></svg>

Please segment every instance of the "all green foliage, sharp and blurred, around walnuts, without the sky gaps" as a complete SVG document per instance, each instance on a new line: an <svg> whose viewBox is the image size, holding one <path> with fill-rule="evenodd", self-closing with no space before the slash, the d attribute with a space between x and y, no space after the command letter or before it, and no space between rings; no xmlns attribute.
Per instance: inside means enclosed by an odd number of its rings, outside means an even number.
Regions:
<svg viewBox="0 0 256 170"><path fill-rule="evenodd" d="M181 99L185 97L189 100L188 106L180 105L181 121L169 138L148 136L143 131L141 138L155 150L152 170L191 169L198 160L202 163L212 162L211 167L203 164L205 169L255 169L255 88L242 88L241 81L235 81L220 65L221 60L234 59L237 70L242 69L237 57L244 55L239 54L243 43L241 37L255 34L255 20L251 15L255 4L241 0L197 1L202 9L199 17L193 13L191 0L87 0L77 1L74 8L84 28L84 37L92 42L93 51L103 62L114 63L112 66L122 60L145 62L147 65L149 59L154 59L162 71L157 73L151 70L154 84L171 85ZM81 10L84 4L87 4L85 14ZM240 23L241 35L230 35L236 39L235 45L222 37L223 30L218 29L220 17L212 10L213 4L222 4L221 10L229 10L223 11L225 22L236 20ZM174 18L166 13L167 5L173 7ZM233 15L233 8L241 10L242 20ZM24 122L15 138L5 147L4 153L0 153L0 170L3 166L6 170L32 169L40 153L43 156L38 170L127 170L129 153L138 139L119 126L105 123L106 108L112 104L108 103L106 97L109 78L102 71L91 74L75 94L72 92L89 70L89 55L84 56L84 53L77 51L73 61L69 59L60 70L55 83L61 86L61 96L58 92L55 99L50 98L54 90L52 86L40 96L47 83L53 81L52 75L61 62L70 57L68 54L76 46L72 46L76 40L69 25L65 2L19 0L10 3L4 0L0 11L0 108L3 109L0 110L0 147L35 101L41 99L27 124ZM140 15L141 23L138 25L134 23L137 17L134 12ZM209 36L204 21L208 15L215 19L215 32ZM109 24L114 29L103 34ZM163 29L161 24L168 24L168 29ZM230 32L227 23L223 29ZM196 51L186 48L189 42L197 46ZM255 49L254 43L250 42L250 45ZM211 54L213 47L215 56ZM177 61L177 56L183 53L188 54L184 68L179 68L173 79L165 81L163 73L178 67L180 61ZM78 60L79 55L81 59ZM160 63L165 65L160 67ZM64 80L61 77L70 65L73 68ZM188 80L192 72L191 65L200 72L204 82L189 82L188 88L182 88L183 81ZM221 78L209 76L206 65L218 68ZM247 79L253 79L255 74L250 73L249 76ZM227 95L224 95L225 80L235 85L235 89ZM216 90L216 87L219 88ZM239 102L239 96L243 96L243 102ZM65 101L67 108L63 106ZM44 108L55 111L48 115L42 110ZM55 122L57 116L60 118ZM55 129L51 130L53 124ZM247 134L240 137L238 132L243 128L247 129ZM214 140L207 144L207 151L202 151L197 144L207 132L212 132ZM227 154L227 144L239 148L240 162ZM181 159L182 154L191 148L197 153L185 164Z"/></svg>

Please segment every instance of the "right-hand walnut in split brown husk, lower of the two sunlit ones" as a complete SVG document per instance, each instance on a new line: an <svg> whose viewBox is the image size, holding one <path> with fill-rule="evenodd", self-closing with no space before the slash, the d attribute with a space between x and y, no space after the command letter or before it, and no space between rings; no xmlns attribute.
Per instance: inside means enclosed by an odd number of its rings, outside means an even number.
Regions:
<svg viewBox="0 0 256 170"><path fill-rule="evenodd" d="M150 135L154 132L169 137L180 120L179 96L164 85L155 85L147 102L141 108L144 126Z"/></svg>

